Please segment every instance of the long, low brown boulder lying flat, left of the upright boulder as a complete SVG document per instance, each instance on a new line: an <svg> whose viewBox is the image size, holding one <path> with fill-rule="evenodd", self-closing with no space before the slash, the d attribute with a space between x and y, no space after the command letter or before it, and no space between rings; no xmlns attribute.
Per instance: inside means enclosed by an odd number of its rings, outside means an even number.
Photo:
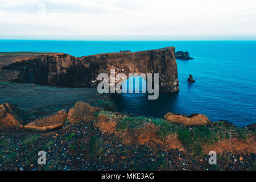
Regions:
<svg viewBox="0 0 256 182"><path fill-rule="evenodd" d="M59 111L58 113L49 115L47 117L35 119L34 122L28 123L24 126L25 129L28 130L53 130L57 127L63 126L66 121L68 113L64 110Z"/></svg>

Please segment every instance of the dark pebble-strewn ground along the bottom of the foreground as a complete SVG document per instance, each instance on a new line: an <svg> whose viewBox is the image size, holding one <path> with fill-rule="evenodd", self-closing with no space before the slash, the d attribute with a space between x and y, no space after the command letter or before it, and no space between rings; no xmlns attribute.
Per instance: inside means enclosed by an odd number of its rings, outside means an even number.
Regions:
<svg viewBox="0 0 256 182"><path fill-rule="evenodd" d="M255 170L255 154L217 156L209 165L207 155L148 144L123 144L93 121L65 123L44 133L4 131L0 134L1 170ZM38 151L47 152L47 164L37 163Z"/></svg>

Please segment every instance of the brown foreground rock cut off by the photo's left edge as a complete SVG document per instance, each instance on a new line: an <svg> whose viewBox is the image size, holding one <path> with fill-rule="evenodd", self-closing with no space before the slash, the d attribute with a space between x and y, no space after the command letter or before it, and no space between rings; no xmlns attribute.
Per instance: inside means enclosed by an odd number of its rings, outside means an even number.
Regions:
<svg viewBox="0 0 256 182"><path fill-rule="evenodd" d="M14 105L6 103L0 105L0 129L17 129L22 126L22 120L13 111Z"/></svg>

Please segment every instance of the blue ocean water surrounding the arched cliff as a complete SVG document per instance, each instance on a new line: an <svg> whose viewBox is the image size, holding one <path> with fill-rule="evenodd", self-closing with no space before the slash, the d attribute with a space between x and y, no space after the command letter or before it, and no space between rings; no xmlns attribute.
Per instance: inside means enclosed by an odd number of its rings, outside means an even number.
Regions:
<svg viewBox="0 0 256 182"><path fill-rule="evenodd" d="M202 113L211 121L228 120L237 126L256 121L255 41L83 42L0 40L3 51L53 51L73 56L119 50L143 51L175 46L195 60L176 60L180 92L160 93L158 100L145 94L113 96L127 113L163 117L167 112ZM189 73L195 83L189 84Z"/></svg>

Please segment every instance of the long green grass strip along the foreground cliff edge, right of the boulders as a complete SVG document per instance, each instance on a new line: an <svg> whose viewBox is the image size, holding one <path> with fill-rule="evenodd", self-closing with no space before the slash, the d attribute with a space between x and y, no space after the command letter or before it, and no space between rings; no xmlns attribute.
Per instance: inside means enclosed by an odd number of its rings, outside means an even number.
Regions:
<svg viewBox="0 0 256 182"><path fill-rule="evenodd" d="M254 135L253 131L238 128L233 125L226 125L223 121L212 123L209 126L182 126L176 123L170 123L162 118L129 117L125 114L115 115L110 111L99 111L95 114L97 117L104 116L117 122L117 133L123 134L125 130L134 130L138 127L144 127L147 123L156 126L156 137L164 140L167 135L177 135L184 147L193 155L203 156L204 147L230 138L239 138L246 140Z"/></svg>

